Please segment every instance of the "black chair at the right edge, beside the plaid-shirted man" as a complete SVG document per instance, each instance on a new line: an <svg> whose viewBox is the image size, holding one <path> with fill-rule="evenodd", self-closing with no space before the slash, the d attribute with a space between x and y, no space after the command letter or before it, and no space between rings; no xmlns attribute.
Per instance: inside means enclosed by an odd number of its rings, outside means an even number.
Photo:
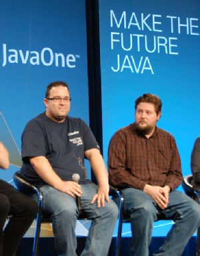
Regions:
<svg viewBox="0 0 200 256"><path fill-rule="evenodd" d="M192 186L191 181L193 180L193 175L187 175L183 178L182 186L185 191L185 194L191 197L194 201L199 203L199 192L195 190L195 188ZM200 228L200 227L199 227ZM196 256L199 256L200 253L200 232L199 228L197 231L197 250L196 250Z"/></svg>

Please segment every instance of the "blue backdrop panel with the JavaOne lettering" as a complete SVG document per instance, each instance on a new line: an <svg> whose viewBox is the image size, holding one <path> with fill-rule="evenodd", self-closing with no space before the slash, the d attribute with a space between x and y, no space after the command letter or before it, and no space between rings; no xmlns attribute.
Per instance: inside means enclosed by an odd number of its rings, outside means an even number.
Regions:
<svg viewBox="0 0 200 256"><path fill-rule="evenodd" d="M23 129L45 111L50 82L69 84L69 116L89 124L85 1L1 1L0 23L0 141L11 161L1 178L10 181L21 166Z"/></svg>

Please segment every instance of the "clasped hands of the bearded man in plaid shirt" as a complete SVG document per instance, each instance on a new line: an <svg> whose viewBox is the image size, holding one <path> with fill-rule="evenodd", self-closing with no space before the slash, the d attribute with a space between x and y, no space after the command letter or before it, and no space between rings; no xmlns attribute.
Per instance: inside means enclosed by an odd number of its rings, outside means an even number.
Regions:
<svg viewBox="0 0 200 256"><path fill-rule="evenodd" d="M161 186L151 186L146 184L143 191L155 200L155 203L157 203L161 209L164 210L167 208L167 204L169 203L169 186L162 188Z"/></svg>

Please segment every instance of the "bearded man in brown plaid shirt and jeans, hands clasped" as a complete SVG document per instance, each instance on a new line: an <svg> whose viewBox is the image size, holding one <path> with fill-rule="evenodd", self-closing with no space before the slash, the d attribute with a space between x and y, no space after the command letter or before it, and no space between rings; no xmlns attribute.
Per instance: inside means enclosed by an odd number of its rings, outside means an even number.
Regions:
<svg viewBox="0 0 200 256"><path fill-rule="evenodd" d="M109 144L109 182L125 197L135 256L149 255L157 211L175 221L157 256L181 255L200 224L200 206L175 190L183 178L181 159L173 136L156 126L161 105L153 94L137 98L135 122L118 130Z"/></svg>

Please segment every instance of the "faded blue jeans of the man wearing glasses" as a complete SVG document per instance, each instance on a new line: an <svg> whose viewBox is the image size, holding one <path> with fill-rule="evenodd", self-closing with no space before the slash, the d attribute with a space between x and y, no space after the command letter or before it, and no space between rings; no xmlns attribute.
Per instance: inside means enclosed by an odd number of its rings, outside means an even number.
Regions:
<svg viewBox="0 0 200 256"><path fill-rule="evenodd" d="M82 256L106 256L113 236L118 216L117 205L110 200L105 207L97 207L97 201L91 205L91 199L97 193L98 186L93 183L81 184L81 208L88 217L93 218ZM77 256L75 227L78 216L75 199L52 186L41 187L44 210L51 213L55 248L59 256Z"/></svg>

